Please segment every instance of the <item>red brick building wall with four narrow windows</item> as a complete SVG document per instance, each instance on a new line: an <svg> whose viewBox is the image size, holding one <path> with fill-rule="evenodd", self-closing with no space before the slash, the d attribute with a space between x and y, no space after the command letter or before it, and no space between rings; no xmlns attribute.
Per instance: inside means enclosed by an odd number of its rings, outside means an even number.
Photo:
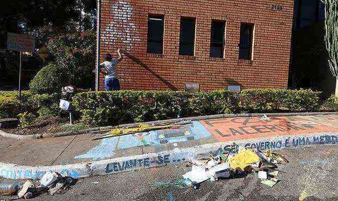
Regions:
<svg viewBox="0 0 338 201"><path fill-rule="evenodd" d="M102 0L101 61L122 47L178 89L198 82L202 90L286 88L293 0ZM272 9L272 4L282 10ZM147 54L148 13L165 15L163 55ZM178 54L180 17L196 17L195 56ZM211 20L226 21L225 58L210 58ZM240 23L255 24L253 60L238 59ZM122 89L168 89L144 67L125 58L118 64ZM101 75L100 88L104 89Z"/></svg>

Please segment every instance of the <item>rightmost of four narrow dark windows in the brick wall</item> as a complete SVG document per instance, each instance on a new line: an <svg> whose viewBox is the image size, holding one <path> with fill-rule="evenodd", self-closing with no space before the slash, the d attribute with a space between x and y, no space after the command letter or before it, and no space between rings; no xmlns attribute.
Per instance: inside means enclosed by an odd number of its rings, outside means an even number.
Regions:
<svg viewBox="0 0 338 201"><path fill-rule="evenodd" d="M252 59L253 26L248 23L240 24L239 59Z"/></svg>

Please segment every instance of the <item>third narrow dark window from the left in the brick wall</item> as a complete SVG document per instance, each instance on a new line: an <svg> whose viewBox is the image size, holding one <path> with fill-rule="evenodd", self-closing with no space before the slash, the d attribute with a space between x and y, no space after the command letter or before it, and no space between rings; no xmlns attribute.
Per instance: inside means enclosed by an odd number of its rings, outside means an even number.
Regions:
<svg viewBox="0 0 338 201"><path fill-rule="evenodd" d="M210 57L224 57L225 21L212 20Z"/></svg>

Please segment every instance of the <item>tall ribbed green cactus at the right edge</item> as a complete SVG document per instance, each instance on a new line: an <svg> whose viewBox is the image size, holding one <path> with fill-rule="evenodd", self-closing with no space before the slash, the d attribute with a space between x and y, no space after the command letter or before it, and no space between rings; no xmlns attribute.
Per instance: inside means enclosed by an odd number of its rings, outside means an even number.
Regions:
<svg viewBox="0 0 338 201"><path fill-rule="evenodd" d="M325 3L325 43L329 67L338 79L338 0L322 0Z"/></svg>

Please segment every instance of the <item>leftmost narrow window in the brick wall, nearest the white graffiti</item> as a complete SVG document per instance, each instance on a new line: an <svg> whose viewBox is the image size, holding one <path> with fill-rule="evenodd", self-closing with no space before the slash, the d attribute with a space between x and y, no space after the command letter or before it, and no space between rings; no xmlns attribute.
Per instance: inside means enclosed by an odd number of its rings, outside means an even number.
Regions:
<svg viewBox="0 0 338 201"><path fill-rule="evenodd" d="M163 53L164 16L149 15L147 53Z"/></svg>

